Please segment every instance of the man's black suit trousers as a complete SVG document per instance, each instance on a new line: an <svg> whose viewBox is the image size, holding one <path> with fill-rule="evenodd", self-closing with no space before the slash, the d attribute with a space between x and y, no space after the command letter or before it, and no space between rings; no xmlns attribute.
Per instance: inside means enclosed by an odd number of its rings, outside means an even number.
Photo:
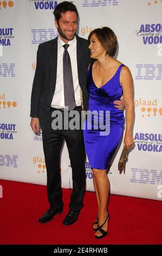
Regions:
<svg viewBox="0 0 162 256"><path fill-rule="evenodd" d="M69 208L73 211L80 211L83 207L83 194L85 191L86 169L85 169L85 144L83 141L82 130L53 130L51 127L51 113L56 110L51 108L46 125L42 131L43 150L47 168L47 192L48 201L52 209L60 210L63 208L61 173L60 173L60 154L63 139L67 143L70 164L72 167L73 192L70 197ZM81 120L81 108L76 109ZM62 113L62 120L64 115ZM68 118L68 122L72 118Z"/></svg>

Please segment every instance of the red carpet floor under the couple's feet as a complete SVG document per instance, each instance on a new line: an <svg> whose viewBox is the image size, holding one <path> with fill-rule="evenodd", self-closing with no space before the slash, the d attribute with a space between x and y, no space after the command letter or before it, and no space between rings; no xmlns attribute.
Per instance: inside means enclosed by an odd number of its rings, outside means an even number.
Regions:
<svg viewBox="0 0 162 256"><path fill-rule="evenodd" d="M46 186L0 180L0 244L114 245L162 244L162 204L160 201L111 195L109 233L94 238L92 223L96 216L94 192L86 192L79 220L62 225L67 215L71 190L63 189L64 211L46 224L37 222L48 209Z"/></svg>

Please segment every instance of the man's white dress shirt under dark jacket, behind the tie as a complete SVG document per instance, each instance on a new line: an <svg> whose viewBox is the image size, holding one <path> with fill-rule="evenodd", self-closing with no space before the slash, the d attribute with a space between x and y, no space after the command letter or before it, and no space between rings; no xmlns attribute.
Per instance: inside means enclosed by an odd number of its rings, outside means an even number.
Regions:
<svg viewBox="0 0 162 256"><path fill-rule="evenodd" d="M65 44L60 36L57 39L58 48L57 48L57 76L56 76L56 88L51 102L51 107L54 108L64 108L64 89L63 89L63 52ZM73 40L68 42L68 53L72 65L72 74L73 74L73 84L74 84L74 95L76 106L81 106L81 95L80 95L80 85L77 74L77 59L76 59L76 36Z"/></svg>

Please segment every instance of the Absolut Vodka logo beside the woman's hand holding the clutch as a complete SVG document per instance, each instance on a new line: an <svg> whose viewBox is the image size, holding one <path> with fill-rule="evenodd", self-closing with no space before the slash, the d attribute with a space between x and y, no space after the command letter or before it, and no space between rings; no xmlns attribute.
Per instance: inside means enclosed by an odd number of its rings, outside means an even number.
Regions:
<svg viewBox="0 0 162 256"><path fill-rule="evenodd" d="M134 142L139 151L162 152L162 134L135 133Z"/></svg>

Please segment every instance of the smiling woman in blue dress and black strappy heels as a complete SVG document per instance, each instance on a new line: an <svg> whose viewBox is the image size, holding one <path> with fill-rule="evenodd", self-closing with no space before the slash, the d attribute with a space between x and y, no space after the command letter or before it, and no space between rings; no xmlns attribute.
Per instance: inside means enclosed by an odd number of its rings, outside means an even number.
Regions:
<svg viewBox="0 0 162 256"><path fill-rule="evenodd" d="M107 167L118 147L123 127L124 113L115 108L114 101L124 95L126 131L124 147L134 144L132 124L134 118L132 75L127 66L114 59L118 41L108 27L94 29L89 34L91 58L88 69L89 114L84 127L85 147L98 202L98 215L93 225L95 237L107 235L109 213L107 210L109 180Z"/></svg>

